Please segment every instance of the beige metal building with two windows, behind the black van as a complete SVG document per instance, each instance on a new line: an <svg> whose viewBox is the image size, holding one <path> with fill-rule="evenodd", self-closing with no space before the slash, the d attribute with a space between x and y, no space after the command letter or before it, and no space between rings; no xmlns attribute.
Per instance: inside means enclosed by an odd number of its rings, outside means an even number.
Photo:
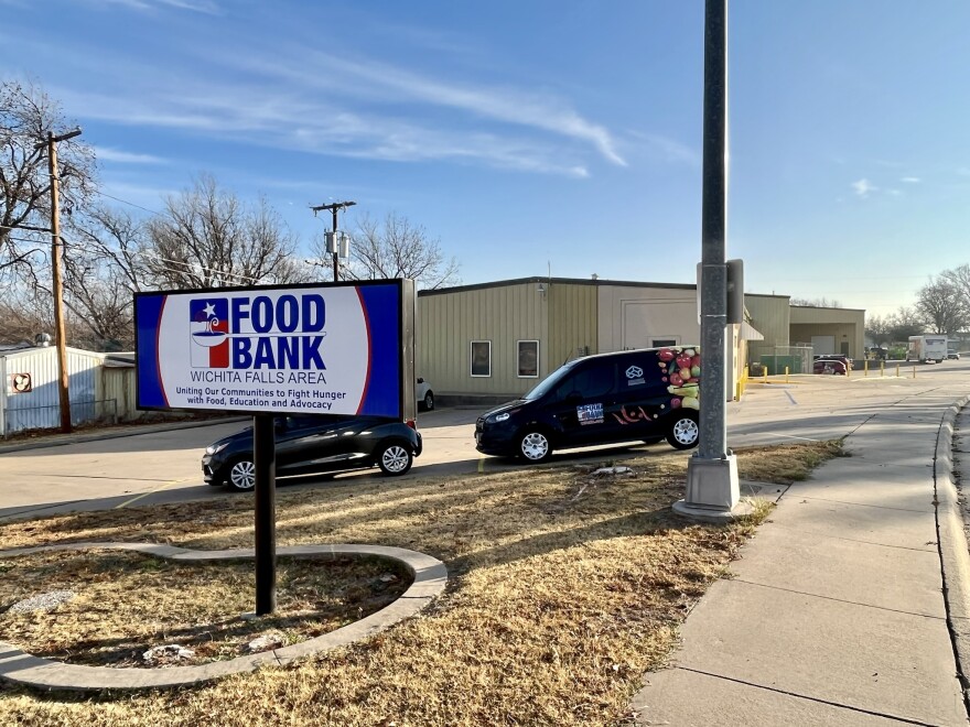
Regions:
<svg viewBox="0 0 970 727"><path fill-rule="evenodd" d="M733 392L758 336L729 332ZM417 333L417 373L439 402L505 401L578 356L698 344L697 286L522 278L420 291Z"/></svg>

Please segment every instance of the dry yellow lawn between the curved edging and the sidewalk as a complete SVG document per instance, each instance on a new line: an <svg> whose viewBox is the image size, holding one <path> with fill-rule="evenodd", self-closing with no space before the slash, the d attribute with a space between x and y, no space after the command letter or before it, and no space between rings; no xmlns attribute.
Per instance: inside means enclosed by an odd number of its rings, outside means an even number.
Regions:
<svg viewBox="0 0 970 727"><path fill-rule="evenodd" d="M788 482L838 444L739 453L744 479ZM685 523L687 457L645 453L633 476L549 467L456 479L336 482L280 492L281 545L377 543L443 560L450 587L419 618L290 669L97 697L0 686L0 723L44 725L606 725L722 575L758 517ZM251 500L0 525L6 546L137 540L252 545Z"/></svg>

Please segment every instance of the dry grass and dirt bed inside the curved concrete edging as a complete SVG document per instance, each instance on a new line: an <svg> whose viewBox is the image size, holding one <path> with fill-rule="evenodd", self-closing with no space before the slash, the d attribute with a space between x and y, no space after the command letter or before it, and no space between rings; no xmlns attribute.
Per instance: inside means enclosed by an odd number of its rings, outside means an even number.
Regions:
<svg viewBox="0 0 970 727"><path fill-rule="evenodd" d="M384 608L411 583L394 561L281 558L277 609L255 618L252 561L62 551L0 561L0 640L67 663L136 668L203 664L305 641ZM15 608L47 593L72 596L51 609ZM267 636L273 638L250 648ZM163 645L181 651L146 658Z"/></svg>

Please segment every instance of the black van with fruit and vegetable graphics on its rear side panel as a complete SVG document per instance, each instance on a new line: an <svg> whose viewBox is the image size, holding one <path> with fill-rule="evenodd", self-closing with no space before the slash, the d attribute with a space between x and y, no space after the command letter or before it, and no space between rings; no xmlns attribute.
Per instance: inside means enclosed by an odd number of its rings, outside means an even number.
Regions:
<svg viewBox="0 0 970 727"><path fill-rule="evenodd" d="M527 462L543 462L553 449L664 437L689 449L700 435L700 375L697 346L578 358L479 416L475 445Z"/></svg>

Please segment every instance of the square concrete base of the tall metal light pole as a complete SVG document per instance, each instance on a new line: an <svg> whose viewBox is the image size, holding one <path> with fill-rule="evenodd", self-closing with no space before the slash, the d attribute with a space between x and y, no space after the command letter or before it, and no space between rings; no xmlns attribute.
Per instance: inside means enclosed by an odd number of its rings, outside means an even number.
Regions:
<svg viewBox="0 0 970 727"><path fill-rule="evenodd" d="M673 503L673 511L703 522L726 522L751 514L753 507L741 501L737 458L733 454L719 459L697 455L687 463L687 492Z"/></svg>

